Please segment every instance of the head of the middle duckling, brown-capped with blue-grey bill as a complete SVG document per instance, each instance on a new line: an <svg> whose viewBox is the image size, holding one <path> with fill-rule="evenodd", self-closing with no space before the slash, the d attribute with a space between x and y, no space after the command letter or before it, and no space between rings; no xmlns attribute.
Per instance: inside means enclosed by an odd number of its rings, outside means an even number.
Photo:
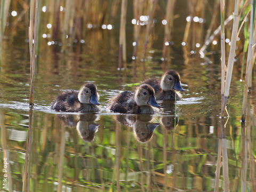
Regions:
<svg viewBox="0 0 256 192"><path fill-rule="evenodd" d="M151 105L153 107L160 107L156 102L155 91L153 87L147 84L142 84L136 89L135 102L138 106Z"/></svg>

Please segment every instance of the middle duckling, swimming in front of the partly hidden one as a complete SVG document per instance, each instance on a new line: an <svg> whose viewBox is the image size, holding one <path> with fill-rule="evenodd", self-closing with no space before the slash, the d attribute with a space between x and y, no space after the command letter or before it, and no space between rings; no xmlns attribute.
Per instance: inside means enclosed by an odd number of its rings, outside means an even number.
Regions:
<svg viewBox="0 0 256 192"><path fill-rule="evenodd" d="M152 106L152 107L151 107ZM153 114L160 107L156 102L154 89L147 84L137 87L135 94L124 91L109 100L108 109L123 114Z"/></svg>

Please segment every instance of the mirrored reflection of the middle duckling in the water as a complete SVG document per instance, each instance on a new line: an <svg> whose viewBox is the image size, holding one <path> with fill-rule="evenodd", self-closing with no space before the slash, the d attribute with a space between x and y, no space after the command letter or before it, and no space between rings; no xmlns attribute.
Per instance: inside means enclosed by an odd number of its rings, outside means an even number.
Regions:
<svg viewBox="0 0 256 192"><path fill-rule="evenodd" d="M141 143L150 141L153 133L159 123L150 123L152 116L148 114L143 115L118 115L116 120L125 125L133 127L133 135L135 139Z"/></svg>

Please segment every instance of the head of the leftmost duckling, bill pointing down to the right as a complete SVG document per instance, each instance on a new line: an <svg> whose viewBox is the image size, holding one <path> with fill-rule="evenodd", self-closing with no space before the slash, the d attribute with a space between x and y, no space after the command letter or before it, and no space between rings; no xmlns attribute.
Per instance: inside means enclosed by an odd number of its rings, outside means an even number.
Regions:
<svg viewBox="0 0 256 192"><path fill-rule="evenodd" d="M93 83L85 83L79 90L78 100L85 104L100 105L97 87Z"/></svg>

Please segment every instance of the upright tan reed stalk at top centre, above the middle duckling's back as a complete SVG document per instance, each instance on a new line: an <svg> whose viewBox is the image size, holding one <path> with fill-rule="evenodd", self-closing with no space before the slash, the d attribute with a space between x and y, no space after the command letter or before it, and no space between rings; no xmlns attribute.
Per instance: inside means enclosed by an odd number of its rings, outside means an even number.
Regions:
<svg viewBox="0 0 256 192"><path fill-rule="evenodd" d="M118 68L122 68L122 63L126 61L125 55L123 53L126 51L126 43L125 43L125 25L126 25L126 12L127 12L127 0L122 0L121 7L121 24L119 30L119 55L118 55Z"/></svg>

